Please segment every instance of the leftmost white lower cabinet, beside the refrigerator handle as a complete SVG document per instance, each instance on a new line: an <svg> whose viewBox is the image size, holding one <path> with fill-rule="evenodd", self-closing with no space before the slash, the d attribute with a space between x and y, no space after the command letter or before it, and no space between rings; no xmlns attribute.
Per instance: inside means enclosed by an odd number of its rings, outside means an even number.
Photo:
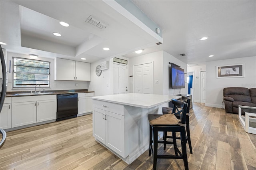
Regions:
<svg viewBox="0 0 256 170"><path fill-rule="evenodd" d="M6 97L0 114L0 128L12 128L12 98Z"/></svg>

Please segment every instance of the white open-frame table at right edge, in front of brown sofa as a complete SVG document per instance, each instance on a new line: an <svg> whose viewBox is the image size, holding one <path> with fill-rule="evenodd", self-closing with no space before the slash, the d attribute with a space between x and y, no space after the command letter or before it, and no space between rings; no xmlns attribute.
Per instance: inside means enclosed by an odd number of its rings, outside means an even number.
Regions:
<svg viewBox="0 0 256 170"><path fill-rule="evenodd" d="M242 111L244 111L244 115L242 115ZM239 105L238 117L246 132L256 134L256 107Z"/></svg>

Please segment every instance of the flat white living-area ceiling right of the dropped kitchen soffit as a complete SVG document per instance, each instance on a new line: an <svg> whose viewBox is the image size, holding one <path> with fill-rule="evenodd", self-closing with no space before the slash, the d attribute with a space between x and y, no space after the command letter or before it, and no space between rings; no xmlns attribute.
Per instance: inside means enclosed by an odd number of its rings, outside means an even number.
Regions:
<svg viewBox="0 0 256 170"><path fill-rule="evenodd" d="M164 43L145 49L144 53L164 50L189 65L256 56L255 0L132 2L163 30ZM204 36L208 40L199 41ZM186 56L180 56L181 53Z"/></svg>

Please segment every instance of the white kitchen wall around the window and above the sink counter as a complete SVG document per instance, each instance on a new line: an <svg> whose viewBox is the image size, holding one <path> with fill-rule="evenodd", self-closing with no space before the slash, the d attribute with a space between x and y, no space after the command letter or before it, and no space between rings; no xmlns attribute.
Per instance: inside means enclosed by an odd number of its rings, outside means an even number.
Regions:
<svg viewBox="0 0 256 170"><path fill-rule="evenodd" d="M19 53L11 53L7 52L7 71L9 71L10 68L10 61L11 61L11 73L7 73L8 76L8 85L7 85L7 91L31 91L34 90L34 88L22 88L22 89L12 89L12 76L13 76L13 68L12 68L12 57L21 57L21 58L28 58L29 55L25 54L19 54ZM50 88L42 88L47 90L70 90L70 89L88 89L88 81L60 81L60 80L54 80L54 59L50 58L43 58L38 57L37 60L44 60L44 61L50 61ZM56 87L54 87L54 84L56 84ZM78 86L75 86L75 84L78 84ZM39 88L40 89L40 88Z"/></svg>

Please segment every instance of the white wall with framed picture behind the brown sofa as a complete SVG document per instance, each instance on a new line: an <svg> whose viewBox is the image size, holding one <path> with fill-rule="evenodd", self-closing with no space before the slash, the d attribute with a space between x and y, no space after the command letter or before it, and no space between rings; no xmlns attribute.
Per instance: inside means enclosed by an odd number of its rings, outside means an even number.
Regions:
<svg viewBox="0 0 256 170"><path fill-rule="evenodd" d="M244 77L216 78L216 65L244 63ZM210 61L206 63L206 106L222 107L224 87L256 87L256 56Z"/></svg>

